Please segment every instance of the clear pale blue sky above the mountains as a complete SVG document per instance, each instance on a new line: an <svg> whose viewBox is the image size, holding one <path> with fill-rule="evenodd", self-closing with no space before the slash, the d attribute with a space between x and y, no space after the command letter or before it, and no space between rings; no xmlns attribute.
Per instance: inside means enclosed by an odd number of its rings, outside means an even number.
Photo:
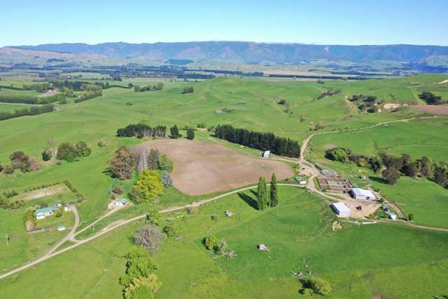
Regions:
<svg viewBox="0 0 448 299"><path fill-rule="evenodd" d="M448 46L447 15L448 0L11 0L1 4L0 46L223 40Z"/></svg>

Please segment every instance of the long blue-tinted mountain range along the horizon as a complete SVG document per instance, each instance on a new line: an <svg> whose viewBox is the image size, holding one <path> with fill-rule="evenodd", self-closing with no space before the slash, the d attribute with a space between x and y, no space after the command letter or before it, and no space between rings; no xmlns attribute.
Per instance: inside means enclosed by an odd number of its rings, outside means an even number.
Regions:
<svg viewBox="0 0 448 299"><path fill-rule="evenodd" d="M96 55L116 59L144 60L235 60L240 62L297 63L304 60L369 62L388 60L408 63L448 61L448 46L331 46L311 44L266 44L245 41L198 41L154 44L43 44L13 46L24 51L51 51L64 54Z"/></svg>

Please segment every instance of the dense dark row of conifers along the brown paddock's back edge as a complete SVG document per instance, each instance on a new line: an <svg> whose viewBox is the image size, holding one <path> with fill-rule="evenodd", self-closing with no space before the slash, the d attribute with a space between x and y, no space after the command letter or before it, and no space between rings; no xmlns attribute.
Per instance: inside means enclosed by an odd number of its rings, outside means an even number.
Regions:
<svg viewBox="0 0 448 299"><path fill-rule="evenodd" d="M233 128L229 124L224 124L215 128L215 137L257 150L270 150L273 154L280 156L300 157L299 142L277 137L273 133L249 131L245 128Z"/></svg>

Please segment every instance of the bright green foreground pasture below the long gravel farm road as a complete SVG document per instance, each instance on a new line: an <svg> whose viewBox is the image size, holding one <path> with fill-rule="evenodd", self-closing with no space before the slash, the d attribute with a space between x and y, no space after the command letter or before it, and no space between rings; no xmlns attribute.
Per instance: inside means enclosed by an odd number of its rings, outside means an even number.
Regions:
<svg viewBox="0 0 448 299"><path fill-rule="evenodd" d="M306 270L302 258L313 274L330 282L330 298L415 298L440 295L447 288L448 234L402 225L344 223L342 230L333 232L334 215L325 201L299 188L280 187L280 205L265 212L247 204L251 197L250 191L233 194L199 208L197 214L163 215L174 219L182 239L168 237L152 255L163 282L157 298L297 298L298 277L290 272ZM224 215L227 209L233 211L231 218ZM142 224L109 232L0 281L2 295L121 298L123 255L133 248L130 237ZM201 239L210 234L225 239L236 257L209 255ZM258 251L262 242L271 251ZM53 280L58 284L45 286ZM421 288L425 281L430 283Z"/></svg>

